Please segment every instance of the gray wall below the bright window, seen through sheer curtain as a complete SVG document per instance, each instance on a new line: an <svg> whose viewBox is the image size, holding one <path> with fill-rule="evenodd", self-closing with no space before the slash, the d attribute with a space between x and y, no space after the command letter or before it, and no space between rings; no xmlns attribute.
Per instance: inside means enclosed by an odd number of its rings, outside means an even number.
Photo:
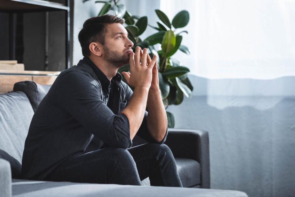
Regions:
<svg viewBox="0 0 295 197"><path fill-rule="evenodd" d="M194 96L167 111L176 119L175 128L209 132L211 188L251 197L292 196L295 77L189 78Z"/></svg>

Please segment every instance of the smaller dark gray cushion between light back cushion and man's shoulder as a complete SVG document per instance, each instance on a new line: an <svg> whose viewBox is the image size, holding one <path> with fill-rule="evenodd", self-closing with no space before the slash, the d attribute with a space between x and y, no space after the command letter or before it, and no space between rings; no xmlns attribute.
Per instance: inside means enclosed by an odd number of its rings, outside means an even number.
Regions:
<svg viewBox="0 0 295 197"><path fill-rule="evenodd" d="M13 86L13 91L22 91L29 98L34 112L36 111L41 100L49 91L51 85L41 85L33 81L17 82Z"/></svg>

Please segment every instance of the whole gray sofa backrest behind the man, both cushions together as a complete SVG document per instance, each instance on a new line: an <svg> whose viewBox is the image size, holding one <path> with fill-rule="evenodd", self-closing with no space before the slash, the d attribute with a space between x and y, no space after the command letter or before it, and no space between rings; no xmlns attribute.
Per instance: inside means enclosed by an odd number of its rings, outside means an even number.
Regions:
<svg viewBox="0 0 295 197"><path fill-rule="evenodd" d="M10 162L12 178L20 178L30 123L50 87L22 81L14 84L13 92L0 94L0 158Z"/></svg>

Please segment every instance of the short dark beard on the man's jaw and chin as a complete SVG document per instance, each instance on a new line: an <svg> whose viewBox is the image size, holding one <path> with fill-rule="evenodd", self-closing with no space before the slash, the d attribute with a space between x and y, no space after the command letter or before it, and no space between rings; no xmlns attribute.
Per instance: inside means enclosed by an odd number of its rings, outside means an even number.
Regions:
<svg viewBox="0 0 295 197"><path fill-rule="evenodd" d="M106 61L110 64L120 68L129 63L129 54L123 53L120 55L118 51L112 51L107 46L103 46Z"/></svg>

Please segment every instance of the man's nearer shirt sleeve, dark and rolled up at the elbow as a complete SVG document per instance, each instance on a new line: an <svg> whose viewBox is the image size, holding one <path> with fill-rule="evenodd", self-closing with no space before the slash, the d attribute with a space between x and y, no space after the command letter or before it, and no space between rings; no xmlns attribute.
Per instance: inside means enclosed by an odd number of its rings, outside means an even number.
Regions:
<svg viewBox="0 0 295 197"><path fill-rule="evenodd" d="M128 118L115 115L101 100L101 87L87 74L70 71L61 76L55 89L55 102L87 131L109 146L132 146Z"/></svg>

